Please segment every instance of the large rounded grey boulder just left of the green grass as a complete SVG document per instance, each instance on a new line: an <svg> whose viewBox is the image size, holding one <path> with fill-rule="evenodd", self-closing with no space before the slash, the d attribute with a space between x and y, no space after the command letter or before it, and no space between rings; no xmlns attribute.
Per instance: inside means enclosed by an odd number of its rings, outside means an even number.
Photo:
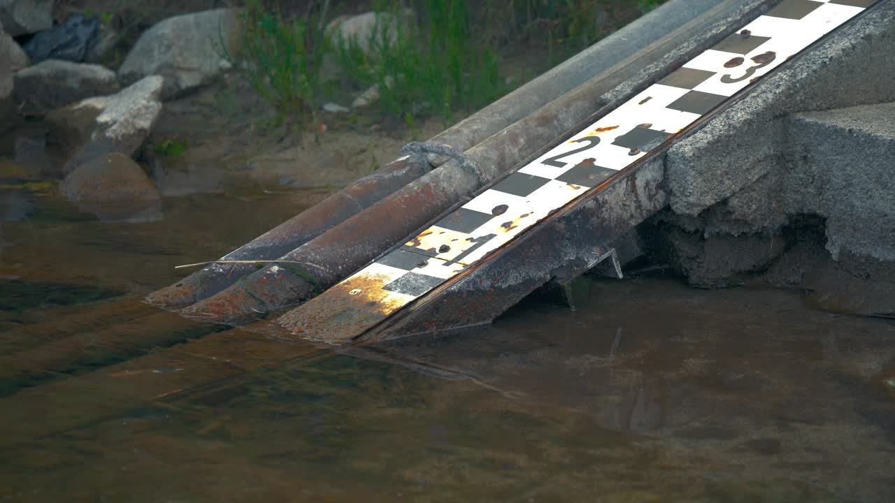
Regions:
<svg viewBox="0 0 895 503"><path fill-rule="evenodd" d="M208 83L222 69L222 39L231 54L236 49L237 13L216 9L159 22L137 40L118 70L119 80L126 85L161 75L165 99Z"/></svg>

